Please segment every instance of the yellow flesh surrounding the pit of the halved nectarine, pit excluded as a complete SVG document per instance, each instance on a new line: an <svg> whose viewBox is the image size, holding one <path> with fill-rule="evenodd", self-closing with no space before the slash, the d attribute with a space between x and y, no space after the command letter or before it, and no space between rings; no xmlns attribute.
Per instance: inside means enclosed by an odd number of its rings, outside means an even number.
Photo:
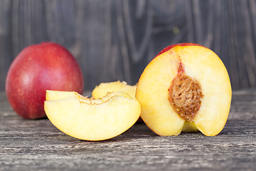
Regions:
<svg viewBox="0 0 256 171"><path fill-rule="evenodd" d="M174 46L146 66L136 92L142 105L142 119L158 135L181 133L185 121L174 112L168 100L168 88L178 73L179 61L186 75L200 83L204 95L193 119L195 124L186 123L184 131L195 131L196 125L204 135L217 135L228 119L230 79L220 58L201 46Z"/></svg>

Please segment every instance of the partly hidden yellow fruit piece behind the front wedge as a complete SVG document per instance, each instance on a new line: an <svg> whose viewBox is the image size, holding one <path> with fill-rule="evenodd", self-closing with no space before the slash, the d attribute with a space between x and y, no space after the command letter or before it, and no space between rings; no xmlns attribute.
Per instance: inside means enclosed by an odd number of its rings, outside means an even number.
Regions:
<svg viewBox="0 0 256 171"><path fill-rule="evenodd" d="M124 91L131 95L132 98L135 98L137 85L130 86L125 81L114 81L110 83L100 83L99 86L96 86L94 90L92 90L92 96L94 98L102 98L108 92L117 92Z"/></svg>

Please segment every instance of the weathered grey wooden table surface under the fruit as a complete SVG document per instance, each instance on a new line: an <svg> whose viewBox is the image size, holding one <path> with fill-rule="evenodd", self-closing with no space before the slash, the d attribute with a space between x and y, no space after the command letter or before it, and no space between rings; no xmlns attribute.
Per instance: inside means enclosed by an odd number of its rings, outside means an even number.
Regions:
<svg viewBox="0 0 256 171"><path fill-rule="evenodd" d="M215 137L160 137L137 123L100 142L65 135L48 119L20 118L1 92L0 170L256 170L256 90L233 92Z"/></svg>

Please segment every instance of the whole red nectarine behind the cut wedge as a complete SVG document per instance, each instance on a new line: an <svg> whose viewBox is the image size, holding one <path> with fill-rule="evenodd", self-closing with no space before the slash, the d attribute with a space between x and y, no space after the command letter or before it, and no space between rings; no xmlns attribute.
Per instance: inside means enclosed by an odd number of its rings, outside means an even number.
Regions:
<svg viewBox="0 0 256 171"><path fill-rule="evenodd" d="M46 90L83 92L82 71L72 54L58 43L45 42L23 49L6 76L6 95L23 118L46 117Z"/></svg>

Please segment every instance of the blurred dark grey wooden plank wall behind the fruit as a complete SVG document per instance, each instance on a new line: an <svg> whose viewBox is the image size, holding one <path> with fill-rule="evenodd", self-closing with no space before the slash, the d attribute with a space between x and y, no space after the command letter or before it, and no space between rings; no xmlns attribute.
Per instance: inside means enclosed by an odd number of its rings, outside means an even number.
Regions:
<svg viewBox="0 0 256 171"><path fill-rule="evenodd" d="M256 87L255 0L1 0L0 90L17 54L42 41L73 53L85 90L135 84L162 48L181 42L215 51L233 89Z"/></svg>

